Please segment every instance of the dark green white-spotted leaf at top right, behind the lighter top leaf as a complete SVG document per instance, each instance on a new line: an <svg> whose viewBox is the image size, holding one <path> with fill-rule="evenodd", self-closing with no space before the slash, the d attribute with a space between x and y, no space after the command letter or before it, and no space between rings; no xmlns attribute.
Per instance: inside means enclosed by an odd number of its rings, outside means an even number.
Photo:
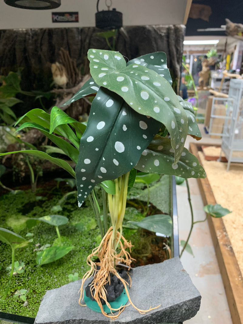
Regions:
<svg viewBox="0 0 243 324"><path fill-rule="evenodd" d="M139 64L147 67L148 69L155 71L158 75L163 76L169 84L172 85L172 79L167 67L166 53L164 52L155 52L139 56L129 61L127 65L129 64Z"/></svg>

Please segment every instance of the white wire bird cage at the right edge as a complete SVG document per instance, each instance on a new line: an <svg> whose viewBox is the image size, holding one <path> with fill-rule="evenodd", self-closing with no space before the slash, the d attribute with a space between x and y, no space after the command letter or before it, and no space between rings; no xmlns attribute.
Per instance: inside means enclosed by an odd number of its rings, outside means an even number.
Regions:
<svg viewBox="0 0 243 324"><path fill-rule="evenodd" d="M226 107L226 106L225 106ZM231 162L243 163L243 80L231 79L225 109L221 153L224 152L229 170Z"/></svg>

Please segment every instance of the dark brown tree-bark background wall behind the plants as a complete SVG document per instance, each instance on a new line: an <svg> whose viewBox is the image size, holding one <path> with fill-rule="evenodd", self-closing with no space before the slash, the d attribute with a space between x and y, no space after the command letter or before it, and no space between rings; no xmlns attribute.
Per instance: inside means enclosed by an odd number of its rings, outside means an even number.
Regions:
<svg viewBox="0 0 243 324"><path fill-rule="evenodd" d="M135 26L125 27L124 31L118 32L116 50L128 60L151 52L165 52L173 88L177 91L185 26ZM60 61L61 47L69 52L78 68L87 66L84 63L89 48L109 49L106 40L98 37L97 32L100 30L93 27L0 30L0 74L7 75L21 68L23 90L49 91L52 83L50 64ZM27 111L34 108L28 108L26 98L24 100ZM20 115L25 112L21 111Z"/></svg>

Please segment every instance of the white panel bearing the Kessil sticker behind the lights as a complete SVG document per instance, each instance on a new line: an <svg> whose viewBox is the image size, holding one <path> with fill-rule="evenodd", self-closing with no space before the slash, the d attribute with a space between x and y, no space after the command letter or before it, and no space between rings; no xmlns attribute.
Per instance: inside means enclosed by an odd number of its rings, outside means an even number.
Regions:
<svg viewBox="0 0 243 324"><path fill-rule="evenodd" d="M169 25L183 23L186 4L187 0L112 0L111 8L123 13L123 26ZM100 0L100 10L107 10L105 0ZM78 11L79 22L52 23L52 11ZM95 13L96 0L61 0L53 10L20 9L0 0L0 29L92 27Z"/></svg>

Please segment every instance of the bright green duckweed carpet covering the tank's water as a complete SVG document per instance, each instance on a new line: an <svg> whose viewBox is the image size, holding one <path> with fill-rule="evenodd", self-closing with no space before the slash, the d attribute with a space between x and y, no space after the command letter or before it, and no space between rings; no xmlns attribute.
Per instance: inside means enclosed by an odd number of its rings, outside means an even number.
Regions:
<svg viewBox="0 0 243 324"><path fill-rule="evenodd" d="M69 188L70 189L70 188ZM141 191L141 184L136 184L134 193ZM77 206L76 195L68 196L62 205L62 211L51 212L51 208L67 192L67 188L49 188L45 191L39 189L36 194L30 190L16 195L11 193L0 196L1 227L16 232L26 239L33 240L28 247L16 250L15 260L24 263L24 272L13 276L9 294L5 301L0 302L0 311L35 317L39 309L41 299L49 289L58 288L70 282L70 274L78 273L78 278L88 270L87 256L100 242L100 234L96 224L95 215L88 201L80 209ZM50 192L51 191L51 192ZM72 190L69 190L72 191ZM38 266L36 256L39 249L46 244L58 244L54 226L40 222L38 225L27 228L26 220L29 217L41 217L48 214L61 214L68 217L66 225L59 226L63 245L75 246L63 258L52 263ZM127 207L127 220L141 220L143 216L133 207ZM31 233L32 235L30 236ZM27 236L26 236L27 235ZM136 231L124 228L125 237L132 241L140 241L141 229ZM0 299L8 283L9 272L6 271L11 263L11 249L7 244L0 242ZM20 290L27 290L26 301L13 295Z"/></svg>

